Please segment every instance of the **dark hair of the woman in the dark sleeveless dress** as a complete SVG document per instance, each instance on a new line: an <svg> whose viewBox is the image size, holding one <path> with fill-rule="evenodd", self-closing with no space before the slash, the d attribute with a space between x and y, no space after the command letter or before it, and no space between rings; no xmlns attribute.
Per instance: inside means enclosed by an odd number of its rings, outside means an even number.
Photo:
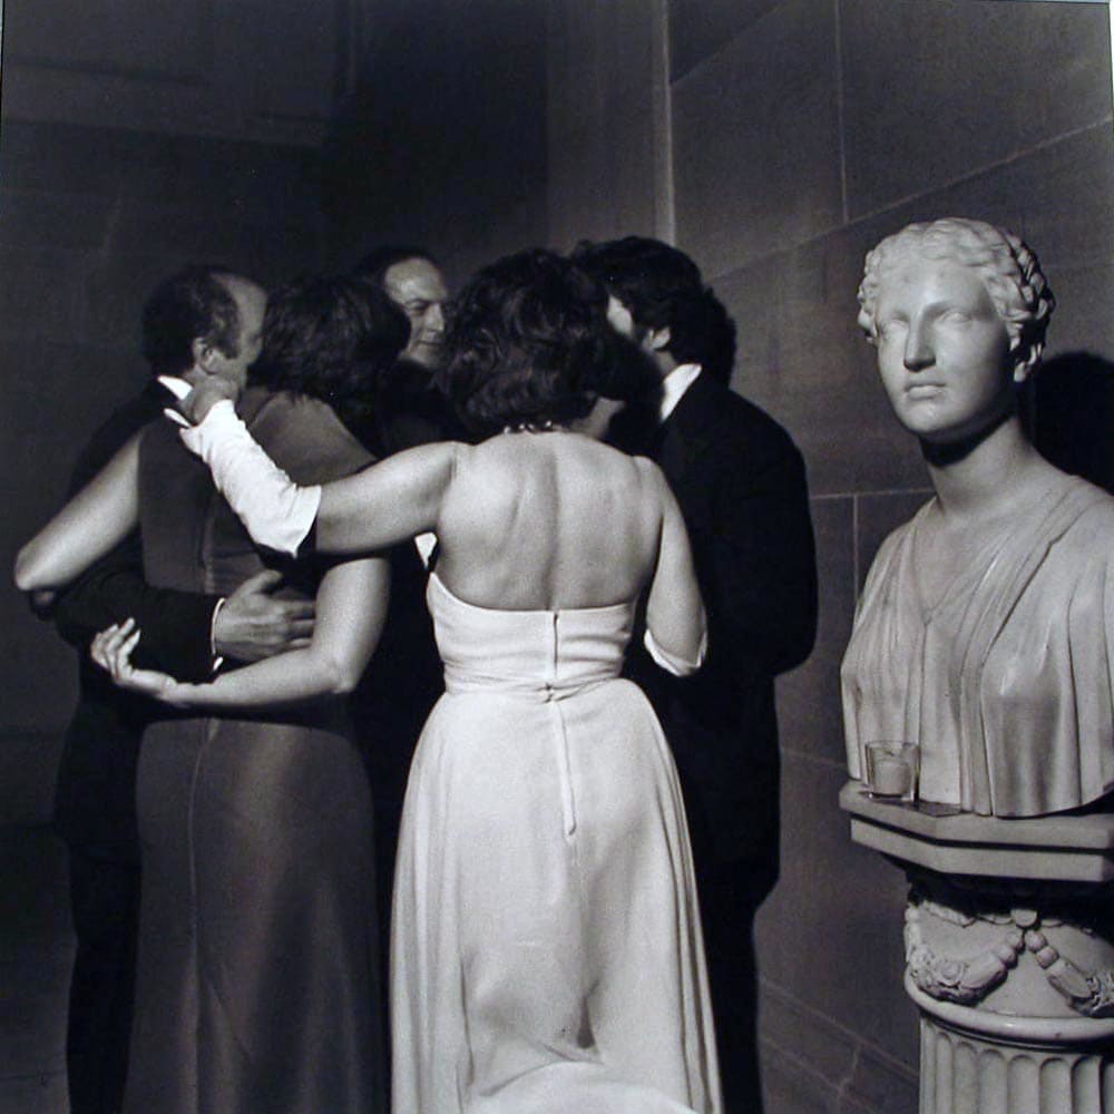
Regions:
<svg viewBox="0 0 1114 1114"><path fill-rule="evenodd" d="M402 311L353 275L302 277L267 299L252 381L328 402L343 419L371 404L410 334Z"/></svg>

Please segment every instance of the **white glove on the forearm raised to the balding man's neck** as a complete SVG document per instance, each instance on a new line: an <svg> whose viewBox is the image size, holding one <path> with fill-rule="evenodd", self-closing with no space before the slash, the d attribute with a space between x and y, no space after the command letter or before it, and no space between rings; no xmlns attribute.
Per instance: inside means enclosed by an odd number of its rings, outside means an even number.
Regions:
<svg viewBox="0 0 1114 1114"><path fill-rule="evenodd" d="M232 402L217 402L197 426L178 431L201 457L213 480L252 539L294 556L321 505L321 486L299 487L263 451L236 416Z"/></svg>

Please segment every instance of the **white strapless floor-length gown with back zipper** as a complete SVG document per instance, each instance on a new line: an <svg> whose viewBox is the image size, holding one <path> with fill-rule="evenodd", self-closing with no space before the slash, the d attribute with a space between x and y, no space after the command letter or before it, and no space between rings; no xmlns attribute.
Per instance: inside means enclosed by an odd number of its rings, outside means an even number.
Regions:
<svg viewBox="0 0 1114 1114"><path fill-rule="evenodd" d="M633 603L478 607L432 575L446 694L395 876L395 1114L720 1110L673 761L618 678Z"/></svg>

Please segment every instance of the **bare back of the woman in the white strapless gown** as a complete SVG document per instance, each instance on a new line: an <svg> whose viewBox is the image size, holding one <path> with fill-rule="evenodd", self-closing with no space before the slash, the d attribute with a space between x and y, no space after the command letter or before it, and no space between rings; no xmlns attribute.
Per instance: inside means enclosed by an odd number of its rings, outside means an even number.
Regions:
<svg viewBox="0 0 1114 1114"><path fill-rule="evenodd" d="M459 453L438 575L481 607L561 610L636 596L662 535L655 467L578 433L505 433Z"/></svg>

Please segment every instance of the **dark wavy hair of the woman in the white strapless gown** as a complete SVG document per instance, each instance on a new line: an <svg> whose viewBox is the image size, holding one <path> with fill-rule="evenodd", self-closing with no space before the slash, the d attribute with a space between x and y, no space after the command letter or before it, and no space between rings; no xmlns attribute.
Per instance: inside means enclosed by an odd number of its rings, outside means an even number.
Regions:
<svg viewBox="0 0 1114 1114"><path fill-rule="evenodd" d="M439 373L465 426L487 436L585 417L609 365L606 306L604 289L555 252L479 271L452 303Z"/></svg>

